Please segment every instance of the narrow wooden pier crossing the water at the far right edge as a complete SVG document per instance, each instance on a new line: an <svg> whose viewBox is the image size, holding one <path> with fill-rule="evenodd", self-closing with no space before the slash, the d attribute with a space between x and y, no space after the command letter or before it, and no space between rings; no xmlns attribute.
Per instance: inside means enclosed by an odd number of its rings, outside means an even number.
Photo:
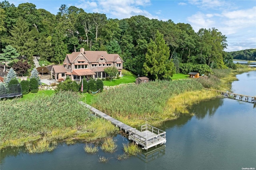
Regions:
<svg viewBox="0 0 256 170"><path fill-rule="evenodd" d="M203 88L203 89L206 89L206 88ZM256 96L241 95L241 94L230 93L230 92L226 92L226 91L219 91L219 90L214 90L214 89L206 89L206 90L219 92L220 94L224 95L224 97L227 97L230 99L246 101L249 103L256 103Z"/></svg>

